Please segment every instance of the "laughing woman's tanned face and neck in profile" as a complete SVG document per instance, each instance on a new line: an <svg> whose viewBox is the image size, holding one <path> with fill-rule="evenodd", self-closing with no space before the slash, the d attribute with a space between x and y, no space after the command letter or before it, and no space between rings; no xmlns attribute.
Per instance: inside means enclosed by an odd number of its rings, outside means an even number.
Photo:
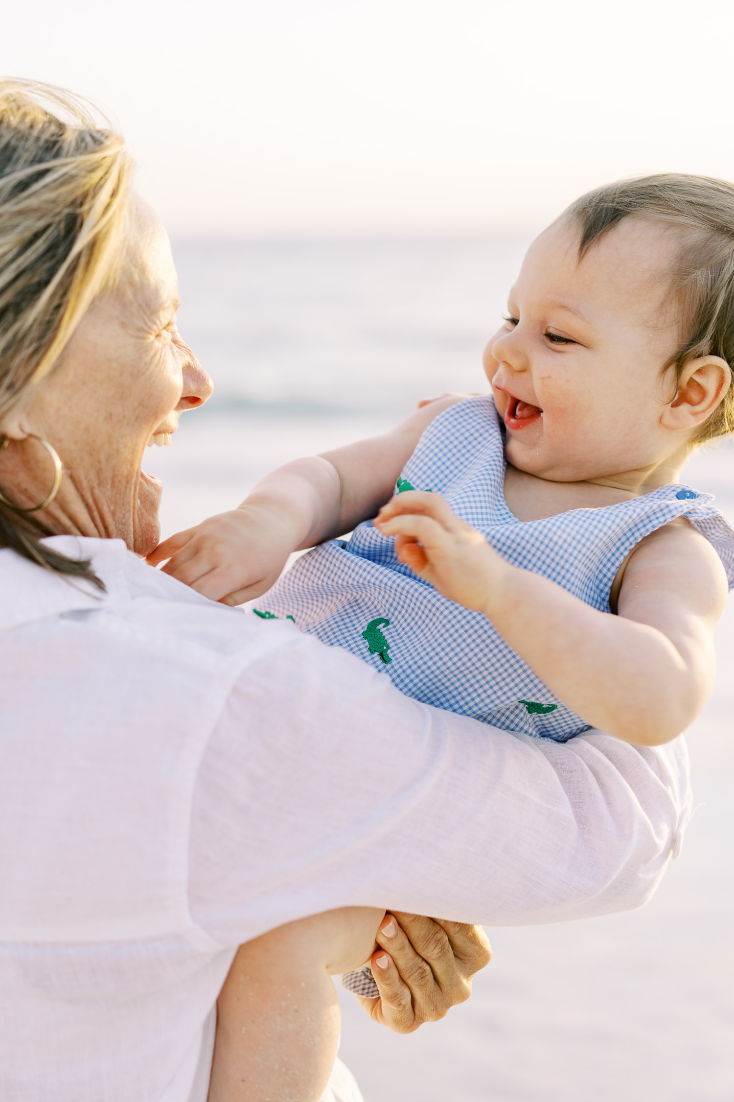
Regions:
<svg viewBox="0 0 734 1102"><path fill-rule="evenodd" d="M168 238L133 196L118 283L91 303L32 400L4 425L14 446L6 450L0 485L35 500L47 491L29 433L47 439L62 458L56 500L39 515L52 531L120 538L141 555L156 545L162 486L141 469L145 445L155 433L174 433L180 412L212 389L178 334L176 309Z"/></svg>

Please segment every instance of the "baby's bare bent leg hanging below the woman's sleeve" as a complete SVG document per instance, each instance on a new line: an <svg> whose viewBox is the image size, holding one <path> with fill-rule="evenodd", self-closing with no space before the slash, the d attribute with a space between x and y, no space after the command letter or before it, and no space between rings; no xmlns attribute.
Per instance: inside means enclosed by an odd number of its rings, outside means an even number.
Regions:
<svg viewBox="0 0 734 1102"><path fill-rule="evenodd" d="M240 947L217 1004L209 1102L318 1102L339 1044L330 977L370 959L384 914L343 907Z"/></svg>

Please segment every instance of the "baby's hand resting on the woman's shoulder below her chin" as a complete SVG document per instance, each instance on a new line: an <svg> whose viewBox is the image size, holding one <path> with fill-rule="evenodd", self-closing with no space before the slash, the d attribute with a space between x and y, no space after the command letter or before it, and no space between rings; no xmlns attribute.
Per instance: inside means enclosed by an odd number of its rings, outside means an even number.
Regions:
<svg viewBox="0 0 734 1102"><path fill-rule="evenodd" d="M296 544L284 515L243 505L158 543L152 566L168 559L166 574L224 605L241 605L270 590Z"/></svg>

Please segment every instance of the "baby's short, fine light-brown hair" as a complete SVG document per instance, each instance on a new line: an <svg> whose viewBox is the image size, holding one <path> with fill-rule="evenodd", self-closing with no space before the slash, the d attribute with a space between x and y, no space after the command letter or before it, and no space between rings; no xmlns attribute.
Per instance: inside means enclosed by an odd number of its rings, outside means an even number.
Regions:
<svg viewBox="0 0 734 1102"><path fill-rule="evenodd" d="M686 364L721 356L734 372L734 184L709 176L660 173L621 180L582 195L561 215L581 228L583 257L623 218L645 218L680 231L670 271L681 343L662 366L675 368L676 385ZM734 430L734 386L701 426L695 443Z"/></svg>

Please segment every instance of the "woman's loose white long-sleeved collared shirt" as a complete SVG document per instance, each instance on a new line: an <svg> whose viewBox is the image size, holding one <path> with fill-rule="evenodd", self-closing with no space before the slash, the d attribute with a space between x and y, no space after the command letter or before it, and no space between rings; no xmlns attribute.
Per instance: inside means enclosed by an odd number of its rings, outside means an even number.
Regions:
<svg viewBox="0 0 734 1102"><path fill-rule="evenodd" d="M347 905L491 925L647 900L681 739L556 745L403 696L118 540L0 551L0 1098L204 1102L235 948Z"/></svg>

